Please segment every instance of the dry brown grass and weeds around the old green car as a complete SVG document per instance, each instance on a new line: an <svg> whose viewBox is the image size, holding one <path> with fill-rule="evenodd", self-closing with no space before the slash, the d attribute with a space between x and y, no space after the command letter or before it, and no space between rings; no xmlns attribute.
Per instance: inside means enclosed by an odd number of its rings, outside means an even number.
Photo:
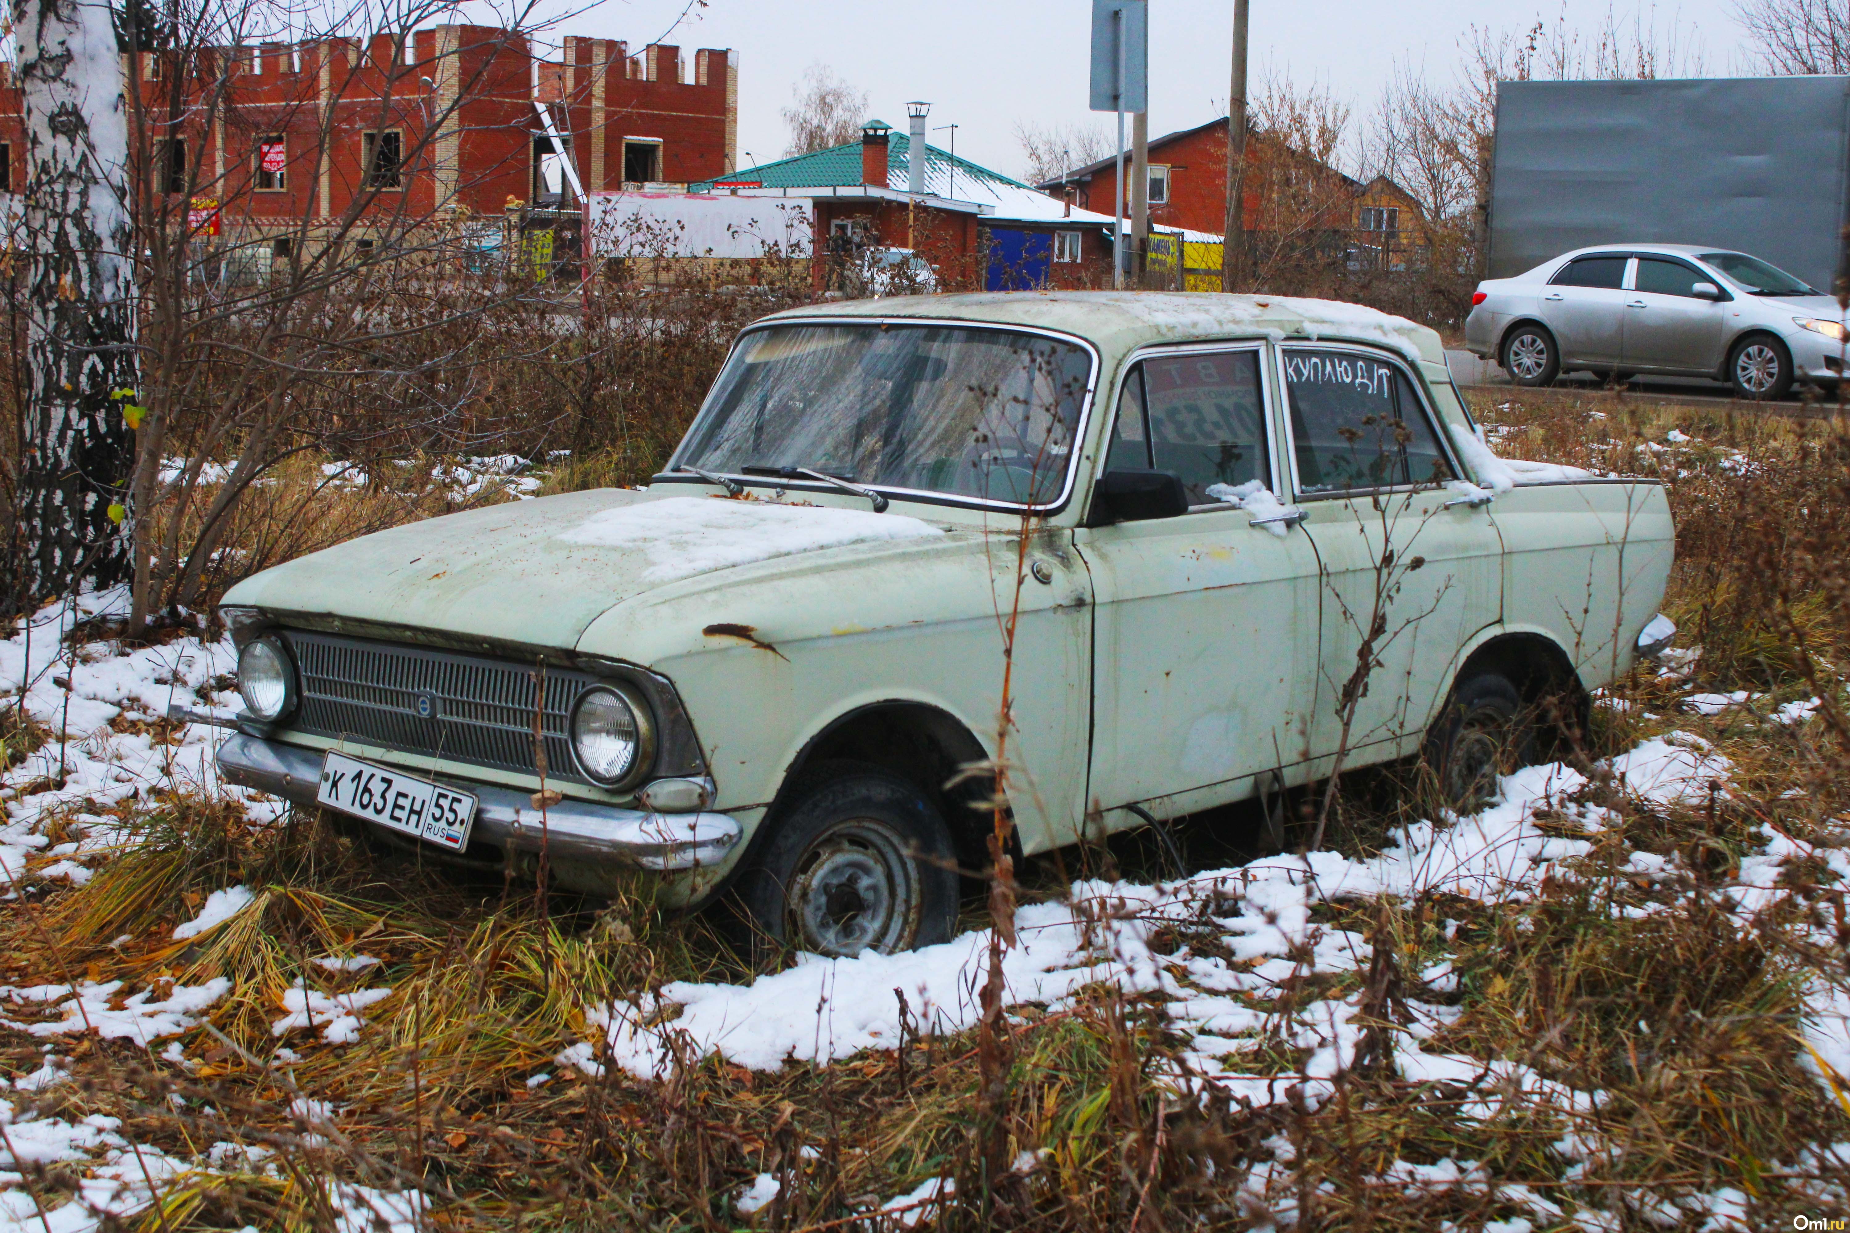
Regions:
<svg viewBox="0 0 1850 1233"><path fill-rule="evenodd" d="M1813 928L1843 921L1844 893L1828 873L1793 867L1787 904L1748 924L1728 911L1722 889L1772 832L1843 841L1846 749L1828 723L1769 717L1820 682L1841 701L1850 621L1833 590L1841 566L1817 547L1850 521L1839 438L1828 425L1750 409L1569 392L1476 401L1482 418L1510 429L1506 453L1665 479L1680 529L1667 610L1685 630L1680 641L1700 641L1704 654L1691 680L1641 669L1619 682L1611 697L1630 710L1597 708L1589 754L1676 726L1733 762L1730 795L1656 808L1597 782L1589 793L1610 823L1584 836L1593 852L1574 878L1502 906L1456 897L1326 906L1326 924L1369 939L1367 971L1299 982L1260 1009L1289 1015L1362 991L1391 1033L1397 993L1450 959L1456 989L1419 991L1456 1007L1434 1048L1600 1089L1597 1105L1517 1096L1491 1081L1413 1083L1378 1059L1347 1072L1317 1107L1188 1100L1173 1078L1178 1041L1166 1033L1162 998L1101 987L1071 1007L1023 1007L1010 1020L1003 1133L1010 1154L1040 1163L982 1178L973 1033L779 1074L684 1057L660 1081L616 1067L588 1078L551 1061L596 1037L588 1004L666 980L744 976L710 922L664 919L642 900L553 898L540 913L527 887L424 871L326 821L257 830L235 808L187 797L131 810L137 843L89 885L0 911L0 954L15 983L57 971L131 987L231 978L211 1019L222 1039L187 1037L191 1074L126 1043L80 1043L70 1050L80 1081L46 1102L63 1117L124 1117L137 1141L176 1154L222 1139L281 1150L279 1174L200 1174L174 1187L159 1216L141 1218L172 1233L327 1227L316 1190L326 1176L416 1183L457 1229L734 1227L729 1196L758 1172L786 1178L779 1203L757 1218L779 1229L870 1227L857 1213L934 1176L960 1187L940 1227L1249 1229L1280 1203L1295 1207L1301 1227L1319 1229L1541 1220L1511 1185L1565 1213L1593 1203L1619 1227L1695 1226L1665 1203L1722 1187L1748 1196L1758 1227L1815 1215L1807 1187L1843 1192L1850 1179L1833 1166L1794 1168L1796 1157L1806 1144L1850 1137L1850 1105L1809 1067L1802 987L1844 976L1850 930L1839 924L1835 948L1820 948ZM1671 429L1698 440L1669 444ZM635 453L579 462L549 482L575 488L648 464L651 446L623 449ZM318 473L303 460L294 479L281 477L279 508L253 507L233 547L279 560L453 508L440 494L387 486L316 490ZM298 512L281 512L290 501ZM1758 697L1698 715L1685 708L1695 688ZM1419 813L1413 784L1406 769L1350 776L1334 841L1378 847ZM1565 819L1560 828L1582 834ZM1639 876L1632 852L1674 858L1674 874ZM1134 848L1114 860L1127 876L1153 873ZM261 902L196 945L170 939L205 893L231 884ZM124 934L133 941L109 945ZM1212 954L1217 934L1177 926L1162 945L1180 961ZM309 959L361 950L381 965L344 985L394 991L366 1011L374 1022L361 1039L279 1041L270 1022L283 993L302 976L326 983ZM9 1068L39 1063L31 1039L6 1037ZM283 1043L300 1063L278 1061ZM1302 1061L1302 1050L1260 1043L1241 1065L1293 1074ZM529 1089L536 1070L555 1078ZM342 1105L344 1142L302 1142L285 1113L298 1094ZM1593 1144L1584 1161L1565 1150L1569 1135ZM1243 1198L1251 1170L1276 1161L1288 1161L1284 1190ZM1439 1161L1474 1163L1489 1181L1423 1189L1393 1174L1397 1163ZM70 1183L52 1170L37 1179Z"/></svg>

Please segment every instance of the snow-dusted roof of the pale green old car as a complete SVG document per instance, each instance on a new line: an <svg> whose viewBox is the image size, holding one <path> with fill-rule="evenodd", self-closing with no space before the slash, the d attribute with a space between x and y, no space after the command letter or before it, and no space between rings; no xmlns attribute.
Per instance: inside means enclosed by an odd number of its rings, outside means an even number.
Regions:
<svg viewBox="0 0 1850 1233"><path fill-rule="evenodd" d="M764 318L934 318L1030 325L1086 338L1110 362L1132 348L1206 338L1341 340L1445 364L1439 335L1404 316L1338 299L1215 292L964 292L805 305Z"/></svg>

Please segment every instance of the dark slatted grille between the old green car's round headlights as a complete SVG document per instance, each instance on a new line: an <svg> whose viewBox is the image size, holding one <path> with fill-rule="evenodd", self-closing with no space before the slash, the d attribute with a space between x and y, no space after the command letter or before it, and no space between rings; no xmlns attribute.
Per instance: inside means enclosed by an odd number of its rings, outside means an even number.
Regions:
<svg viewBox="0 0 1850 1233"><path fill-rule="evenodd" d="M533 664L305 630L287 630L285 640L300 684L292 728L479 767L535 771ZM586 784L568 725L574 699L596 678L548 667L544 680L538 712L546 775Z"/></svg>

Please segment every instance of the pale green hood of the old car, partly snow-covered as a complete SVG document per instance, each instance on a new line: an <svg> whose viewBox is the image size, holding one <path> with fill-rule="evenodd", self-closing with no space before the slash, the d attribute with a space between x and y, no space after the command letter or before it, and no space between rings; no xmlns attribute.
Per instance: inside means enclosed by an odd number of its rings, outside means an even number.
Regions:
<svg viewBox="0 0 1850 1233"><path fill-rule="evenodd" d="M361 536L246 579L224 603L575 647L592 621L649 590L942 534L903 514L605 488Z"/></svg>

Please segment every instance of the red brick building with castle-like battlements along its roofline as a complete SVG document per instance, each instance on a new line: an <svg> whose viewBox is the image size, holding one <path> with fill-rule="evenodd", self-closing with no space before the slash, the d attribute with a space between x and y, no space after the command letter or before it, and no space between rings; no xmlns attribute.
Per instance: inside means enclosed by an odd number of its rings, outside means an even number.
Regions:
<svg viewBox="0 0 1850 1233"><path fill-rule="evenodd" d="M675 46L631 55L610 39L566 39L559 61L536 59L520 33L437 26L366 43L213 48L170 109L178 65L161 52L133 61L150 190L218 211L220 231L261 238L352 224L374 237L500 218L535 196L555 131L586 190L631 179L692 181L736 166L738 79L731 52L699 50L692 72ZM128 61L130 57L126 57ZM128 72L128 68L126 68ZM198 104L218 79L216 107ZM196 116L209 115L207 120ZM0 78L0 177L24 187L20 96Z"/></svg>

